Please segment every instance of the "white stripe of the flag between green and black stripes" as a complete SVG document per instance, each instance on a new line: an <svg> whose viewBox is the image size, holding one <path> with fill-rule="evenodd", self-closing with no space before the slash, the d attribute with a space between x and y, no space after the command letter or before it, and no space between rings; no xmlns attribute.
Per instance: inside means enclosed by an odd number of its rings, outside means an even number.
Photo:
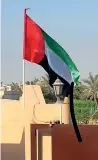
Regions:
<svg viewBox="0 0 98 160"><path fill-rule="evenodd" d="M65 79L69 84L72 82L71 72L69 71L67 65L62 61L62 59L57 56L46 44L45 42L45 54L48 59L48 63L51 69L58 74L60 77Z"/></svg>

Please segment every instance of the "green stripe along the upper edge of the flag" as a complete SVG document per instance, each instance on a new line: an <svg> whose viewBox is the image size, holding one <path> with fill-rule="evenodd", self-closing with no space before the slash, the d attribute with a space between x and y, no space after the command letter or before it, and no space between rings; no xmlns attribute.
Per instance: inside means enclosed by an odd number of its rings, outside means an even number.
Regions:
<svg viewBox="0 0 98 160"><path fill-rule="evenodd" d="M54 40L52 39L44 30L42 30L44 40L46 41L47 45L51 50L54 51L56 55L58 55L67 65L69 71L72 74L72 78L74 83L77 83L80 73L73 63L72 59L69 57L68 53Z"/></svg>

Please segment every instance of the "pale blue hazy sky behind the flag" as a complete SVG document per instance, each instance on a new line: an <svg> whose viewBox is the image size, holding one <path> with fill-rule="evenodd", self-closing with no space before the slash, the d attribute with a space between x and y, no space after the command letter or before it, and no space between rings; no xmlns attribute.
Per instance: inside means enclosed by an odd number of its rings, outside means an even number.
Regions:
<svg viewBox="0 0 98 160"><path fill-rule="evenodd" d="M22 81L23 11L54 38L80 71L98 74L98 0L2 0L1 79ZM43 68L25 62L25 80L45 75Z"/></svg>

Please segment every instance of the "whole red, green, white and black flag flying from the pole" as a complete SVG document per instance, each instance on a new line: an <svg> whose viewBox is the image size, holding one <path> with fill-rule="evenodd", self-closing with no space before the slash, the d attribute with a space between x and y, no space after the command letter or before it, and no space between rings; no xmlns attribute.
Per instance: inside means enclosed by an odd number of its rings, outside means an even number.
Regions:
<svg viewBox="0 0 98 160"><path fill-rule="evenodd" d="M68 53L27 14L24 13L23 59L42 66L49 75L49 84L59 78L67 96L70 84L77 83L80 73Z"/></svg>

